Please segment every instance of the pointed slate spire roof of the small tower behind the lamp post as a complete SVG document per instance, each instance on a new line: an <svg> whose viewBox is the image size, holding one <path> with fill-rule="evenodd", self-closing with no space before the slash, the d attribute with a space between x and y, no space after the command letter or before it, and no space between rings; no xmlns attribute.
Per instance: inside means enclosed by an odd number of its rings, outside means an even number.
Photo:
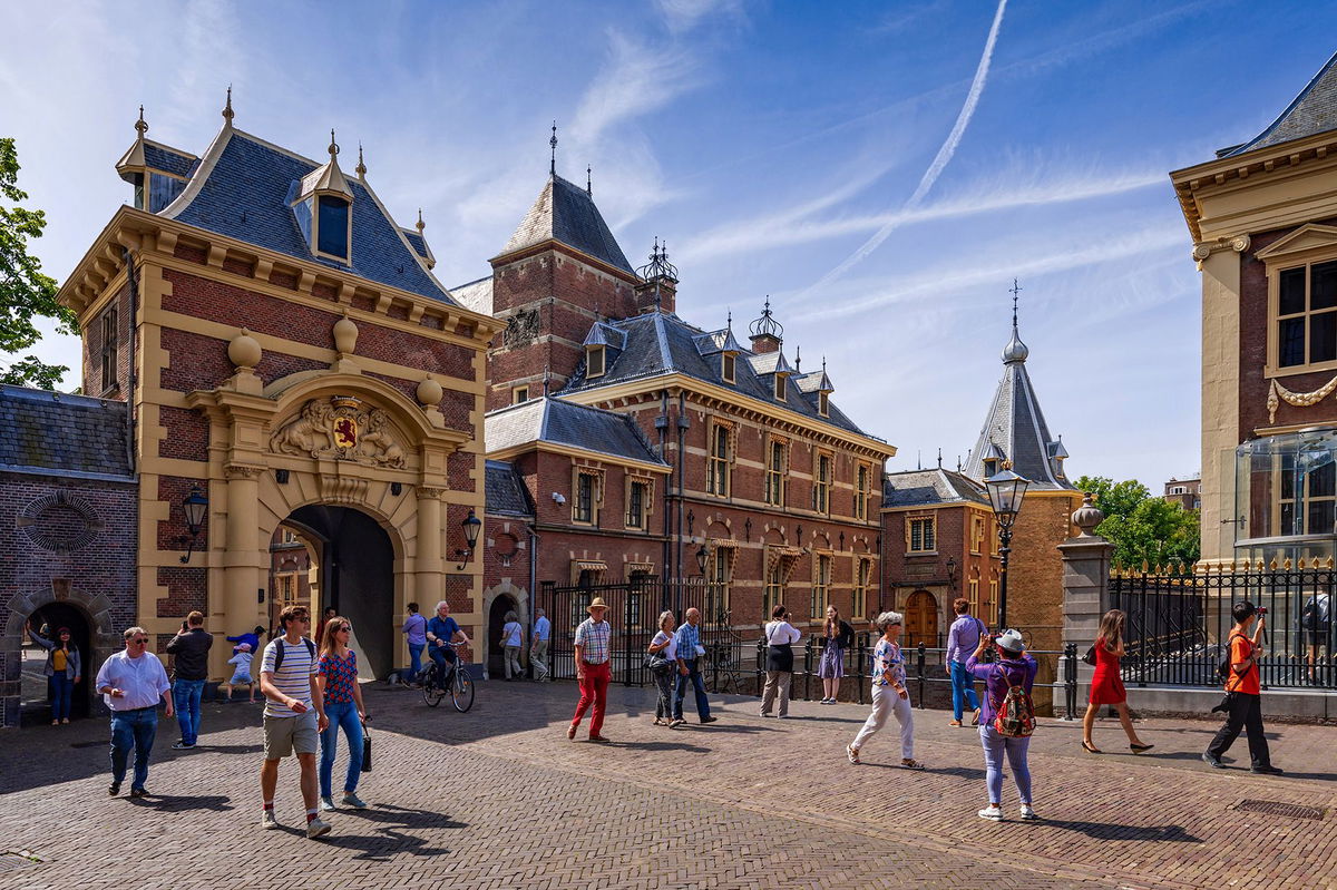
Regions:
<svg viewBox="0 0 1337 890"><path fill-rule="evenodd" d="M1063 449L1050 434L1040 402L1035 397L1031 376L1025 372L1029 349L1021 342L1012 325L1012 339L1003 350L1003 380L993 393L993 402L984 416L984 428L965 461L965 476L984 481L984 460L1001 452L1012 461L1012 472L1031 480L1031 490L1076 490L1063 476L1063 465L1056 460Z"/></svg>

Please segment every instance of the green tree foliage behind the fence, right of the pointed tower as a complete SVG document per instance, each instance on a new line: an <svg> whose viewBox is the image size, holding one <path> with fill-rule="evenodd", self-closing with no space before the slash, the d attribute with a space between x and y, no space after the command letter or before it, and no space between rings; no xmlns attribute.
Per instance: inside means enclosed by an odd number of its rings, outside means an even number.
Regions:
<svg viewBox="0 0 1337 890"><path fill-rule="evenodd" d="M1103 476L1083 476L1075 485L1090 492L1104 513L1095 533L1114 544L1114 559L1120 565L1140 567L1143 561L1191 565L1198 560L1198 510L1154 497L1136 480L1115 482Z"/></svg>

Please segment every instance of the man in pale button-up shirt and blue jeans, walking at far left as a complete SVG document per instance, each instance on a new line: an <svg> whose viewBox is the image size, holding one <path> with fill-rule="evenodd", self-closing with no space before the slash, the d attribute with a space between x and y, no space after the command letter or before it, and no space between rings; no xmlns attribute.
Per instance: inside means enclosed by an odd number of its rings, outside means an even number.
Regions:
<svg viewBox="0 0 1337 890"><path fill-rule="evenodd" d="M111 787L112 796L120 794L126 779L126 760L135 750L135 776L130 782L130 796L142 798L148 780L148 755L158 734L158 699L167 704L171 718L171 683L158 656L147 651L148 631L132 627L126 631L126 648L103 661L98 671L96 690L111 708Z"/></svg>

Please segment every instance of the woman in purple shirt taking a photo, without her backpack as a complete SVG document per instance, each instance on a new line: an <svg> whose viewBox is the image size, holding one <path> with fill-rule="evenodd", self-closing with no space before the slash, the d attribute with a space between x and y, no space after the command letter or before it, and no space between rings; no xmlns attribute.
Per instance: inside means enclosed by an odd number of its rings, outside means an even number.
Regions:
<svg viewBox="0 0 1337 890"><path fill-rule="evenodd" d="M997 636L999 659L988 664L980 661L984 649L991 644L989 637L981 636L975 653L965 660L965 670L976 680L984 680L983 715L980 719L980 743L984 746L984 766L987 768L989 806L980 810L981 819L1003 819L1003 755L1007 754L1008 766L1012 768L1012 780L1016 782L1017 795L1021 798L1021 818L1039 819L1031 808L1031 768L1025 763L1027 748L1031 739L1009 738L993 728L993 715L997 707L1007 698L1008 687L1020 686L1027 695L1035 686L1035 659L1025 651L1021 633L1017 631L1003 631Z"/></svg>

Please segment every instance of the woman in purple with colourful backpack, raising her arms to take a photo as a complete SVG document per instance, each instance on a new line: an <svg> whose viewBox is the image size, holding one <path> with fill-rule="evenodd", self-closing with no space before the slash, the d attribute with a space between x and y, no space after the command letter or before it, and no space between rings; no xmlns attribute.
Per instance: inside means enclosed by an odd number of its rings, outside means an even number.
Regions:
<svg viewBox="0 0 1337 890"><path fill-rule="evenodd" d="M999 657L992 664L983 661L984 649L997 645ZM984 680L981 704L980 743L984 746L985 782L989 806L980 810L981 819L1003 821L1003 755L1012 768L1012 780L1021 798L1021 818L1039 819L1031 807L1031 767L1025 763L1035 730L1035 706L1031 688L1039 665L1025 651L1019 631L1003 631L995 637L981 636L975 653L965 660L965 670L976 680Z"/></svg>

